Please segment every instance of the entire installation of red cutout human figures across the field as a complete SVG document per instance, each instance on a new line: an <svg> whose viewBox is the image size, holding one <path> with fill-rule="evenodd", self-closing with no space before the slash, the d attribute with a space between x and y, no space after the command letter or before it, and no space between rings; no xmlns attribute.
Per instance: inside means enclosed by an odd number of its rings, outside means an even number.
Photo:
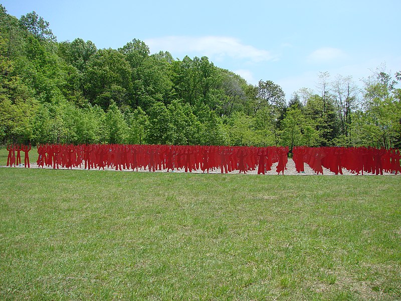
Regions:
<svg viewBox="0 0 401 301"><path fill-rule="evenodd" d="M21 164L21 151L25 153L24 166L30 167L31 144L11 144L7 146L9 156L7 166ZM200 145L126 145L126 144L42 144L38 145L39 167L82 168L115 170L144 169L156 171L221 170L221 173L258 169L258 174L271 171L278 163L277 173L287 169L288 146L200 146ZM359 175L383 172L401 174L400 152L398 149L372 147L307 147L296 146L293 160L298 173L304 172L308 164L316 174L323 174L323 167L342 174L343 168Z"/></svg>

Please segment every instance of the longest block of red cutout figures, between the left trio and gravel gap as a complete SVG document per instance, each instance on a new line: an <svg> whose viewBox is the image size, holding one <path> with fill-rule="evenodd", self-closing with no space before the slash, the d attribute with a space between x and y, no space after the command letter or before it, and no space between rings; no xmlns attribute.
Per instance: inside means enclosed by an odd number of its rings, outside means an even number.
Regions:
<svg viewBox="0 0 401 301"><path fill-rule="evenodd" d="M44 144L38 145L38 166L58 169L84 167L85 169L148 171L202 170L209 173L247 171L258 168L258 174L270 171L278 162L276 172L287 165L288 147L269 146L205 146L205 145L126 145L126 144Z"/></svg>

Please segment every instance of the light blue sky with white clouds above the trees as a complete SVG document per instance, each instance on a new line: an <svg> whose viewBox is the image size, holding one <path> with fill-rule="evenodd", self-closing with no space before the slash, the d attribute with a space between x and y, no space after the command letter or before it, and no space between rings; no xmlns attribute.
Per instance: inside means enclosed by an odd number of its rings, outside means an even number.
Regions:
<svg viewBox="0 0 401 301"><path fill-rule="evenodd" d="M316 89L319 72L359 81L385 64L401 71L400 0L336 1L46 1L0 0L20 18L35 11L58 41L97 48L144 41L151 53L208 56L248 83L272 80L286 98Z"/></svg>

